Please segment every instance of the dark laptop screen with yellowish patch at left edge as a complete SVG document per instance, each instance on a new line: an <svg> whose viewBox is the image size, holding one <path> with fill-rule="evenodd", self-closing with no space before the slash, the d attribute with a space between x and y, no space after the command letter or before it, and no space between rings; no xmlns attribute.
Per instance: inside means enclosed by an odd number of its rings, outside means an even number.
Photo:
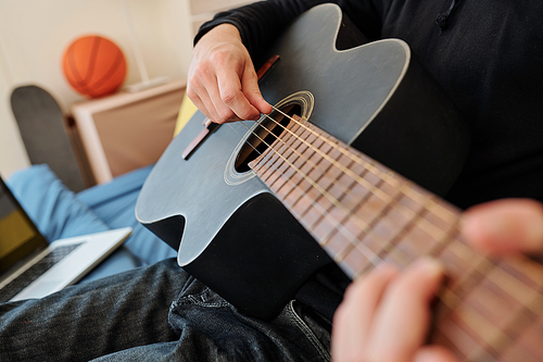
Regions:
<svg viewBox="0 0 543 362"><path fill-rule="evenodd" d="M29 254L47 247L10 189L0 178L0 273Z"/></svg>

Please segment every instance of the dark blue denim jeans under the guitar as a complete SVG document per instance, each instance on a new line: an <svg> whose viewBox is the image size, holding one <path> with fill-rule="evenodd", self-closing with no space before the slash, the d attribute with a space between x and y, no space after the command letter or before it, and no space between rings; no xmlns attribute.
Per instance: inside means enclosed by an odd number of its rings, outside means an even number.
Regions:
<svg viewBox="0 0 543 362"><path fill-rule="evenodd" d="M247 317L168 259L0 304L0 360L328 361L328 332L295 307Z"/></svg>

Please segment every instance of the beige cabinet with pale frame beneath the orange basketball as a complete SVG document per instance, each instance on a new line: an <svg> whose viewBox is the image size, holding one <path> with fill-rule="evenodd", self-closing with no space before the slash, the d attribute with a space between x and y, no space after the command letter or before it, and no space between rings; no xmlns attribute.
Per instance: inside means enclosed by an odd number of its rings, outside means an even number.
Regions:
<svg viewBox="0 0 543 362"><path fill-rule="evenodd" d="M186 80L71 107L97 184L159 160L174 135Z"/></svg>

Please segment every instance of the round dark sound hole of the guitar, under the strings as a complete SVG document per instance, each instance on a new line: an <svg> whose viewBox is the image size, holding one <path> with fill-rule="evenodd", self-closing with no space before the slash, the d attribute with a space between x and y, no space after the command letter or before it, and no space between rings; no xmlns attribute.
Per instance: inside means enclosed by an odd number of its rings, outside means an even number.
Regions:
<svg viewBox="0 0 543 362"><path fill-rule="evenodd" d="M285 132L292 115L300 115L302 111L301 107L295 103L287 104L280 110L288 114L288 117L274 111L269 113L269 117L261 120L261 126L254 128L253 135L247 139L238 153L235 164L237 172L244 173L251 170L249 163L262 154Z"/></svg>

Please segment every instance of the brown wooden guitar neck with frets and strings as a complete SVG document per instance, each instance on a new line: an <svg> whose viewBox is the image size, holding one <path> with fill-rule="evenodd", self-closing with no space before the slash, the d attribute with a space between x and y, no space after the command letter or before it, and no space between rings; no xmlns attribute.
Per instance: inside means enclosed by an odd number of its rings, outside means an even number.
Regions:
<svg viewBox="0 0 543 362"><path fill-rule="evenodd" d="M471 249L453 205L300 118L250 166L352 278L440 259L433 342L467 361L543 360L543 267Z"/></svg>

